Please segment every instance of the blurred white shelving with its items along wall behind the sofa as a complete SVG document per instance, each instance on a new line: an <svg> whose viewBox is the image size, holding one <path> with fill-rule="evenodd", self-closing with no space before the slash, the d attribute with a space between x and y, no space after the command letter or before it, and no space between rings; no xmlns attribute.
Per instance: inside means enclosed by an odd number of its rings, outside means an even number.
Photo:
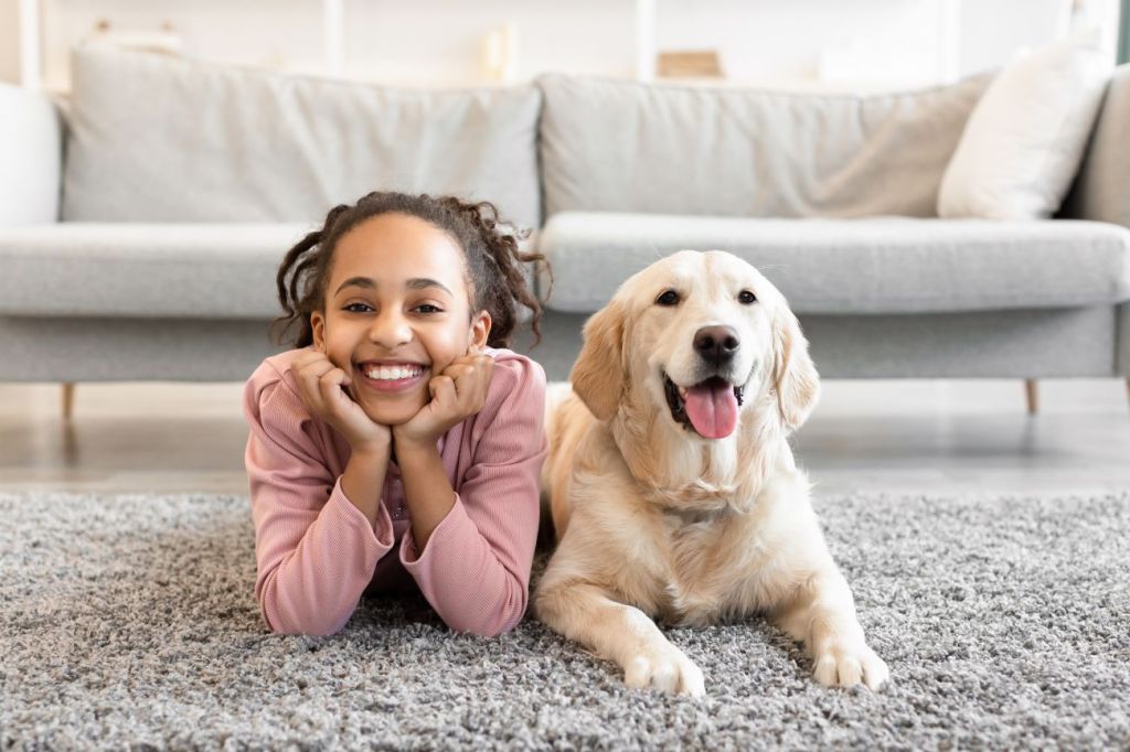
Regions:
<svg viewBox="0 0 1130 752"><path fill-rule="evenodd" d="M687 54L710 51L718 72L694 78L718 82L724 71L733 85L881 90L998 68L1017 50L1046 45L1081 26L1101 28L1113 58L1120 26L1125 27L1119 14L1128 5L1130 0L0 0L0 80L66 91L69 51L102 34L124 46L397 85L522 81L547 71L651 80L686 70L696 60Z"/></svg>

